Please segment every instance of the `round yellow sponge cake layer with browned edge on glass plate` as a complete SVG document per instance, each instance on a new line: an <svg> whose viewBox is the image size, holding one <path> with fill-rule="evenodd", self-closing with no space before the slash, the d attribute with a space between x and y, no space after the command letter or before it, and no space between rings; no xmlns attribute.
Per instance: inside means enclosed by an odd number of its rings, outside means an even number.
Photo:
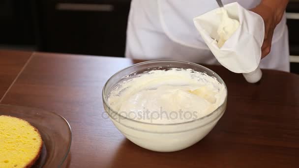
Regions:
<svg viewBox="0 0 299 168"><path fill-rule="evenodd" d="M31 166L41 147L41 136L29 122L0 115L0 168Z"/></svg>

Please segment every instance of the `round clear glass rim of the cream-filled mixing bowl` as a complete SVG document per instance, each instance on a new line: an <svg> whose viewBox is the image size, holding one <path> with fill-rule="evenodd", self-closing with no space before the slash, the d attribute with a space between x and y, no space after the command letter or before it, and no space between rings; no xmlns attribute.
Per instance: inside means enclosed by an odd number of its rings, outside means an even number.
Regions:
<svg viewBox="0 0 299 168"><path fill-rule="evenodd" d="M210 71L213 75L215 75L215 76L220 80L219 82L221 82L222 84L224 84L224 87L225 87L225 89L226 89L225 99L224 99L224 101L222 102L222 104L221 104L217 109L215 109L213 112L211 112L211 113L209 113L208 115L205 115L205 116L203 116L203 117L200 117L200 118L197 118L197 119L195 119L195 120L191 120L191 121L180 122L180 123L170 123L170 124L160 124L160 123L155 123L155 124L153 124L153 123L148 123L148 122L142 122L142 121L138 121L138 120L133 120L133 119L128 118L128 117L125 117L125 116L120 116L120 114L119 114L118 112L115 112L115 111L108 105L107 99L106 99L106 97L105 97L105 95L104 95L104 94L105 94L105 88L106 88L106 85L109 83L109 81L110 81L113 77L115 77L115 76L116 76L117 74L119 74L121 71L124 71L124 70L126 70L126 69L129 69L129 68L131 68L131 67L133 67L133 66L137 66L137 65L141 65L141 64L146 64L146 63L152 63L152 62L163 62L163 61L165 61L165 62L169 61L169 62L179 62L179 63L192 64L192 65L195 65L195 66L204 68L204 69L207 70L207 71ZM191 69L191 68L190 68L190 69ZM176 59L157 59L157 60L149 60L149 61L139 62L139 63L133 64L133 65L130 65L130 66L126 67L126 68L120 69L118 72L116 72L114 75L112 75L112 76L107 80L107 82L104 84L103 89L102 89L102 99L103 99L104 104L108 107L109 111L115 113L117 116L120 116L120 117L122 117L122 118L124 118L124 119L128 119L129 121L132 121L132 122L137 122L137 123L142 123L142 124L147 124L147 125L157 125L157 126L158 126L158 125L180 125L180 124L188 124L188 123L193 123L193 122L196 122L196 121L199 121L199 120L203 120L203 119L205 119L205 118L208 118L209 116L211 116L211 115L213 115L215 112L217 112L221 107L223 107L223 105L227 102L227 95L228 95L228 89L227 89L227 86L226 86L225 82L223 81L223 79L222 79L216 72L212 71L211 69L209 69L209 68L207 68L207 67L205 67L205 66L203 66L203 65L197 64L197 63L193 63L193 62L189 62L189 61L176 60ZM106 112L106 110L105 110L105 112ZM108 113L108 115L110 115L109 112L107 112L107 113Z"/></svg>

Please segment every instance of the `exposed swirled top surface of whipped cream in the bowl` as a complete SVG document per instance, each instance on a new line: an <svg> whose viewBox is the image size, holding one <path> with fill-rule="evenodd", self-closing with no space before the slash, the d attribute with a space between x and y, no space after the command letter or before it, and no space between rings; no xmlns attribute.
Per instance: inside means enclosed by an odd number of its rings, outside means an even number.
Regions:
<svg viewBox="0 0 299 168"><path fill-rule="evenodd" d="M216 110L227 91L214 77L192 69L151 70L127 77L109 93L120 115L146 123L182 123Z"/></svg>

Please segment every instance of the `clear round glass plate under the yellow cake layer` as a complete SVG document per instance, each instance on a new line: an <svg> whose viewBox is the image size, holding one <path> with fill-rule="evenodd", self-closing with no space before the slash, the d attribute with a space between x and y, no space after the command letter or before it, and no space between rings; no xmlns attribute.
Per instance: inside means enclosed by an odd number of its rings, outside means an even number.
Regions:
<svg viewBox="0 0 299 168"><path fill-rule="evenodd" d="M41 109L2 104L0 115L25 119L41 134L43 148L31 168L57 168L62 165L72 141L71 128L62 116Z"/></svg>

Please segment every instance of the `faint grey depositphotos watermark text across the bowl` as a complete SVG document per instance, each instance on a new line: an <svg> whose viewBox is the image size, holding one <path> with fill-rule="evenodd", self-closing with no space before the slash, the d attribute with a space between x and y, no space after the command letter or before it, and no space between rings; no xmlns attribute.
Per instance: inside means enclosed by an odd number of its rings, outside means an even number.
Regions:
<svg viewBox="0 0 299 168"><path fill-rule="evenodd" d="M121 111L118 113L108 111L108 112L102 112L101 117L104 119L108 119L109 116L114 119L118 120L118 122L121 122L121 120L124 120L126 118L132 119L132 120L138 120L138 121L147 121L150 123L153 123L155 120L194 120L197 119L199 112L197 111L163 111L163 108L160 107L160 111L149 111L145 107L143 108L143 111ZM109 115L109 116L108 116Z"/></svg>

